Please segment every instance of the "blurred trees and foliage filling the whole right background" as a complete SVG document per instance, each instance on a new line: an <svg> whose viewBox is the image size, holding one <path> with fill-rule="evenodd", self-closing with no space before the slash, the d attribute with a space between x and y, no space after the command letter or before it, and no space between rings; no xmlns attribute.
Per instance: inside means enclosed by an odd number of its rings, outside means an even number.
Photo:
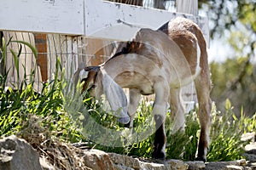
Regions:
<svg viewBox="0 0 256 170"><path fill-rule="evenodd" d="M211 65L212 98L221 111L224 111L225 99L230 99L236 116L240 115L241 107L247 116L253 116L256 111L253 93L256 89L255 4L254 0L207 1L212 38L221 37L234 52L232 56L217 56L229 59Z"/></svg>

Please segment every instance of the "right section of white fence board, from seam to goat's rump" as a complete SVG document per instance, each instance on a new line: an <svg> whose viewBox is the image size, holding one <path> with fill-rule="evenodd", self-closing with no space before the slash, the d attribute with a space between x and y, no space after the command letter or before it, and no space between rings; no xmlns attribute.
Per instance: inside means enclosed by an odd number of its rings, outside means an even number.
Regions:
<svg viewBox="0 0 256 170"><path fill-rule="evenodd" d="M90 37L130 40L142 27L157 29L168 20L181 15L194 20L201 27L208 40L207 18L99 0L85 0L85 34Z"/></svg>

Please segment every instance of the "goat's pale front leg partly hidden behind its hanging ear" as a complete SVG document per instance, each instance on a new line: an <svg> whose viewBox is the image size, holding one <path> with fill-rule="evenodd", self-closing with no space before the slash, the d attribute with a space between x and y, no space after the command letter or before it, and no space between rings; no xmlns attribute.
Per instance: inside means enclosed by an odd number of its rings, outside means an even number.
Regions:
<svg viewBox="0 0 256 170"><path fill-rule="evenodd" d="M128 105L128 114L130 116L130 122L126 124L130 128L133 127L133 120L134 120L134 116L137 111L137 105L140 99L141 99L140 91L136 88L130 88L129 89L129 105Z"/></svg>

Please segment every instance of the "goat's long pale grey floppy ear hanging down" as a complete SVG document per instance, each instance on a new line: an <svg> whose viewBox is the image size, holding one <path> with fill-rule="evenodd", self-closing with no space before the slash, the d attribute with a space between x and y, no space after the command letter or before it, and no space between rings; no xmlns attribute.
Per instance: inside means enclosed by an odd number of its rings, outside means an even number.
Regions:
<svg viewBox="0 0 256 170"><path fill-rule="evenodd" d="M123 124L130 122L130 116L127 114L128 103L124 90L106 72L102 72L102 86L112 111L115 116L119 117L118 121Z"/></svg>

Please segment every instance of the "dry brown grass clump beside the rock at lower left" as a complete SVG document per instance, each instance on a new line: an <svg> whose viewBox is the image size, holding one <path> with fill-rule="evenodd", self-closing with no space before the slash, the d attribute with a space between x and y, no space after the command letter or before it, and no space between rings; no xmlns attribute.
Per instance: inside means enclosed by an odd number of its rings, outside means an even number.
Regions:
<svg viewBox="0 0 256 170"><path fill-rule="evenodd" d="M26 126L20 131L19 137L26 139L33 148L38 150L40 157L56 169L90 169L84 164L83 150L55 138L51 135L53 132L40 126L41 121L38 116L31 116L27 122L24 122Z"/></svg>

